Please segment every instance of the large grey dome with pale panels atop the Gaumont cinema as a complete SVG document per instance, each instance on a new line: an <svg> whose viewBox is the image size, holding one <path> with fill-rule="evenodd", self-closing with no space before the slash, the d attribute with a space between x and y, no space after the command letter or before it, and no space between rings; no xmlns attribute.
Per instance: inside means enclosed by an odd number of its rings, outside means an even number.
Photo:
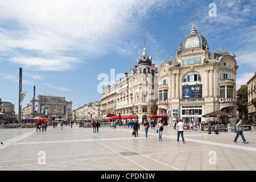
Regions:
<svg viewBox="0 0 256 182"><path fill-rule="evenodd" d="M193 26L189 35L186 36L183 40L181 40L179 47L177 49L177 53L181 53L189 48L201 48L205 49L208 46L207 39L203 35L197 33L196 28Z"/></svg>

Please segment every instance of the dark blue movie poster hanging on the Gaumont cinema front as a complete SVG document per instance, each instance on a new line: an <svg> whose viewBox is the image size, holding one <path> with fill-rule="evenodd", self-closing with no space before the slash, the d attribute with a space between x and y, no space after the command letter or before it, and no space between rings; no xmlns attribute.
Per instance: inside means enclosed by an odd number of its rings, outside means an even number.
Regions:
<svg viewBox="0 0 256 182"><path fill-rule="evenodd" d="M202 98L202 85L182 86L182 98Z"/></svg>

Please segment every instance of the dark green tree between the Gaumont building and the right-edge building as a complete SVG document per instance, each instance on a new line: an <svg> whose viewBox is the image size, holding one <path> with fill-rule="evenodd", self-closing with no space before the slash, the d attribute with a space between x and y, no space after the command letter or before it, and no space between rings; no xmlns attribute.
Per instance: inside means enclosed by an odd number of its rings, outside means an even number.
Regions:
<svg viewBox="0 0 256 182"><path fill-rule="evenodd" d="M247 87L243 87L237 92L237 111L241 115L248 114L248 89Z"/></svg>

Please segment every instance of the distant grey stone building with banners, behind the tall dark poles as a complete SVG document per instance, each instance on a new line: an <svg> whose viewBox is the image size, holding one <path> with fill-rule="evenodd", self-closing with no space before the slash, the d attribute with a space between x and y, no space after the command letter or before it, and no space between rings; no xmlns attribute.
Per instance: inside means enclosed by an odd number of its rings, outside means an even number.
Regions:
<svg viewBox="0 0 256 182"><path fill-rule="evenodd" d="M38 95L34 107L33 99L31 99L30 104L22 109L22 119L33 117L48 118L51 121L57 118L72 119L72 101L66 101L65 97L59 94Z"/></svg>

